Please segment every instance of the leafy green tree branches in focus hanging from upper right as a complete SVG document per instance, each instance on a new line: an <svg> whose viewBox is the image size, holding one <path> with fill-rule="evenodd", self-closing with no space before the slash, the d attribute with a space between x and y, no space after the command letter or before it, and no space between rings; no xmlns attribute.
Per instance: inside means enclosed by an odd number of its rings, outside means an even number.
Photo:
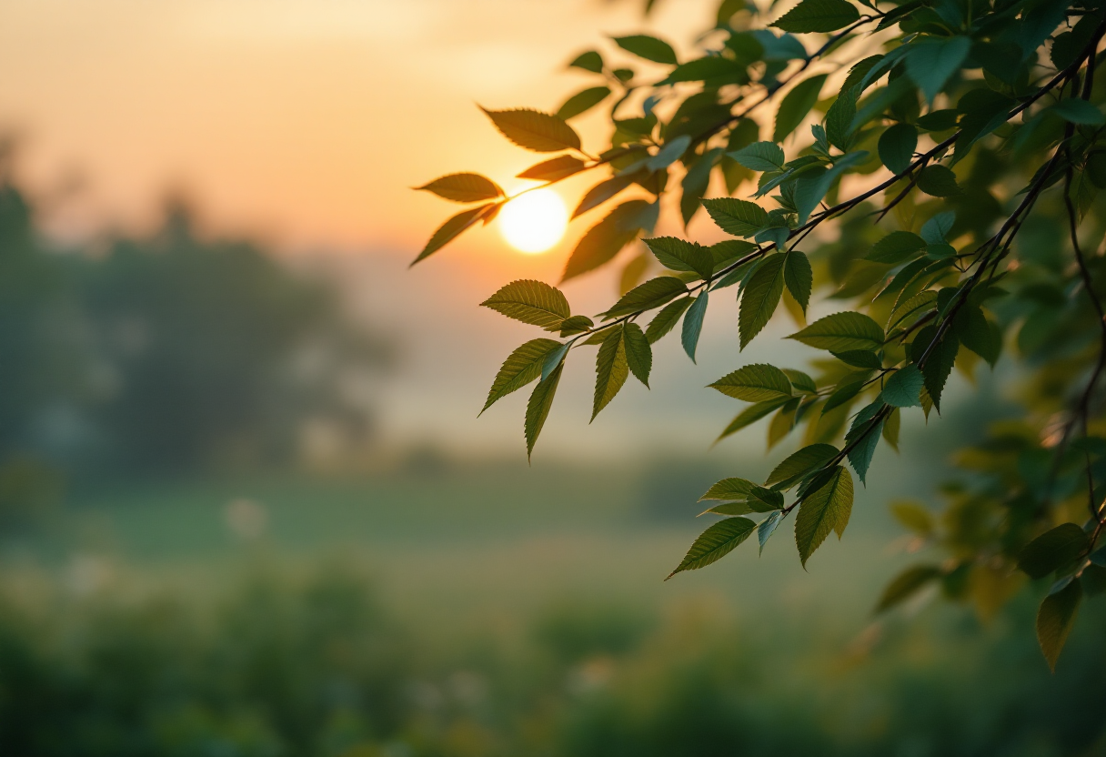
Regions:
<svg viewBox="0 0 1106 757"><path fill-rule="evenodd" d="M770 28L757 28L765 19ZM1106 525L1106 438L1096 435L1106 426L1104 258L1081 246L1081 238L1097 245L1106 227L1098 197L1106 85L1095 77L1104 32L1097 0L868 0L863 10L802 0L763 18L743 0L724 0L696 58L681 62L653 37L614 39L664 72L651 83L609 70L598 52L580 55L572 65L604 85L557 114L488 115L520 146L563 153L520 175L540 186L611 172L574 217L634 186L647 197L622 201L592 226L564 279L608 263L638 237L646 250L626 262L624 293L597 320L573 315L560 290L538 281L512 282L487 300L561 339L515 350L486 408L536 381L525 417L532 452L573 350L598 346L594 417L629 373L648 384L651 345L681 319L695 360L708 303L721 290L737 292L742 349L783 302L802 326L790 339L827 353L813 361L813 375L752 364L710 386L751 403L719 438L771 416L769 446L805 426L802 445L763 485L728 478L705 495L708 512L722 519L674 574L720 559L753 530L763 549L792 510L805 566L831 531L845 530L853 474L864 483L880 440L896 447L901 414L940 413L953 367L971 376L981 360L994 366L1005 346L1024 384L1021 425L958 453L966 479L948 489L939 526L926 508L898 508L948 557L895 579L879 610L937 582L985 613L1019 577L1052 575L1037 633L1054 665L1083 594L1106 587L1106 557L1094 551ZM611 145L589 155L566 120L616 93ZM770 123L762 114L772 111ZM677 166L678 190L669 182ZM703 199L712 176L729 196ZM481 205L447 221L418 259L510 199L473 174L424 188ZM651 237L672 191L685 227L703 207L733 238L707 247ZM835 241L812 234L827 221ZM807 325L816 287L848 307ZM643 329L637 320L649 311L657 312Z"/></svg>

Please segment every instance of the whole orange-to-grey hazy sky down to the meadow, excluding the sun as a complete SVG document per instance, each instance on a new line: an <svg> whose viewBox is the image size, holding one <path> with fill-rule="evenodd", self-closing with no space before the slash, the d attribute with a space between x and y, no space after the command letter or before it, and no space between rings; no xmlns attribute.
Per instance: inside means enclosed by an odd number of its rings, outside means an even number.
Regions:
<svg viewBox="0 0 1106 757"><path fill-rule="evenodd" d="M553 110L588 85L565 69L577 52L645 29L680 48L714 4L661 0L646 22L639 0L0 0L0 123L25 135L23 173L36 186L87 177L55 218L66 231L149 222L176 186L211 230L343 252L357 307L405 345L384 407L392 438L521 455L525 392L476 414L533 329L476 305L513 278L556 281L588 221L541 256L477 229L408 272L457 208L409 187L467 169L517 186L540 157L507 143L476 103ZM601 118L576 122L597 149ZM703 221L693 234L709 232ZM596 312L613 288L601 272L566 292L576 312ZM702 387L779 357L774 336L791 325L778 319L739 355L735 310L711 308L698 366L675 338L658 345L651 392L632 381L591 426L591 357L575 361L539 452L706 449L740 403Z"/></svg>

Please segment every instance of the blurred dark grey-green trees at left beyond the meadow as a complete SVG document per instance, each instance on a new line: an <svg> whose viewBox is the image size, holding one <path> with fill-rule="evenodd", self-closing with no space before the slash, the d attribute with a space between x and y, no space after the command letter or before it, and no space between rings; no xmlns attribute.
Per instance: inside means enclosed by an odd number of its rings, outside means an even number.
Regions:
<svg viewBox="0 0 1106 757"><path fill-rule="evenodd" d="M8 519L61 479L283 465L312 429L364 440L357 384L387 359L333 284L198 236L181 204L149 236L51 241L3 165L0 354Z"/></svg>

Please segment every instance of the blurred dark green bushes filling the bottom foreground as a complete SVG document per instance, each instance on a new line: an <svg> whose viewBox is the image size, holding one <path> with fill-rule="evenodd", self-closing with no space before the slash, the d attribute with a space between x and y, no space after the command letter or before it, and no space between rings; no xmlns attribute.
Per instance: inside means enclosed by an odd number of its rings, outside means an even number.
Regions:
<svg viewBox="0 0 1106 757"><path fill-rule="evenodd" d="M233 584L232 584L233 585ZM40 579L0 592L6 755L1010 757L1106 749L1106 654L1078 626L1055 676L1018 618L939 614L848 643L833 616L765 624L551 604L504 631L392 616L348 568L135 599ZM761 609L763 610L763 608ZM771 626L771 628L769 628ZM815 630L816 629L816 630ZM855 629L855 626L854 626ZM452 635L451 635L452 634ZM875 651L872 651L872 646Z"/></svg>

